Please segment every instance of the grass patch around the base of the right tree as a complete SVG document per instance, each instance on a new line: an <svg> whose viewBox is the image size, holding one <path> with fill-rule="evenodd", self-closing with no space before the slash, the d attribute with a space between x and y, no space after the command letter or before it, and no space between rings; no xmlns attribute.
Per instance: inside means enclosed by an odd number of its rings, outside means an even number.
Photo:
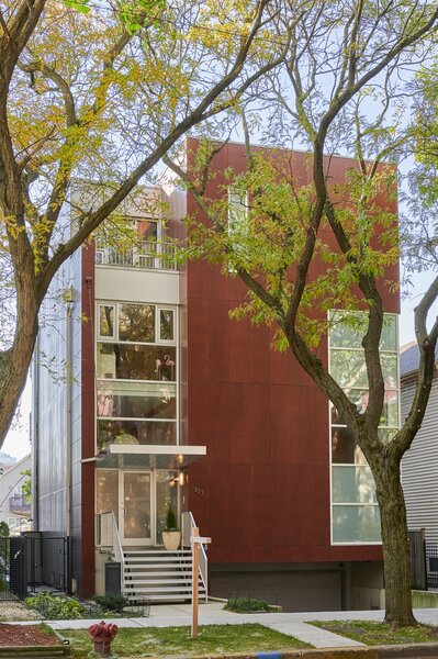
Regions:
<svg viewBox="0 0 438 659"><path fill-rule="evenodd" d="M317 621L311 624L368 646L438 641L438 627L431 625L392 627L371 621Z"/></svg>

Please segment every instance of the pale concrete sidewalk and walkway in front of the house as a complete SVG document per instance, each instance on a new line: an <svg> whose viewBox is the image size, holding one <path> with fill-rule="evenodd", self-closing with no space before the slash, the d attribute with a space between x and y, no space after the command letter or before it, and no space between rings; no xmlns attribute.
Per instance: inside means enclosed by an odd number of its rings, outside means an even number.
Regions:
<svg viewBox="0 0 438 659"><path fill-rule="evenodd" d="M339 648L361 646L362 644L344 638L330 632L308 625L308 621L348 621L348 619L383 619L383 611L336 611L315 613L256 613L239 614L223 610L223 602L209 602L200 605L200 625L242 625L244 623L260 623L270 629L289 634L300 640L312 644L315 648ZM417 608L416 618L426 624L438 625L438 608ZM90 621L45 621L54 629L88 628L97 619ZM115 623L119 627L177 627L191 624L190 604L154 605L150 606L149 617L139 618L108 618L106 623ZM32 624L32 623L25 623ZM33 623L35 624L35 623Z"/></svg>

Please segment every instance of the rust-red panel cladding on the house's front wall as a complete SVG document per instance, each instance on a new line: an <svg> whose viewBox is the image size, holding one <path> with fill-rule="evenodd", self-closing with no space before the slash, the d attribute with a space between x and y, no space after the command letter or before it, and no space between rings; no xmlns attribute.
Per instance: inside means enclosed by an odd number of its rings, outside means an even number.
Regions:
<svg viewBox="0 0 438 659"><path fill-rule="evenodd" d="M196 141L188 141L195 150ZM306 154L278 152L300 185L311 180ZM189 154L189 169L193 155ZM212 199L225 193L223 171L246 167L245 149L228 144L214 159ZM349 158L326 161L332 180L345 180ZM394 200L381 200L395 211ZM188 213L202 219L188 196ZM324 238L333 241L324 227ZM315 264L313 273L324 271ZM328 403L289 353L271 349L272 332L229 320L245 299L238 278L203 261L187 266L181 317L187 340L188 433L207 455L190 468L189 509L213 538L213 562L321 562L381 560L380 546L330 546ZM397 268L389 278L397 279ZM388 311L398 295L382 288ZM315 314L317 314L315 310ZM327 345L321 358L327 362Z"/></svg>

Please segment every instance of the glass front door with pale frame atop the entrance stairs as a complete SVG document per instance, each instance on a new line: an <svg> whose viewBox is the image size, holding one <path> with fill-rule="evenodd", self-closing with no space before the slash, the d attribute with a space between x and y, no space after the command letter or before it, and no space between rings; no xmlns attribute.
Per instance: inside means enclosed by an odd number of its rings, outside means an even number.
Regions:
<svg viewBox="0 0 438 659"><path fill-rule="evenodd" d="M153 545L151 473L149 471L121 472L120 532L122 545Z"/></svg>

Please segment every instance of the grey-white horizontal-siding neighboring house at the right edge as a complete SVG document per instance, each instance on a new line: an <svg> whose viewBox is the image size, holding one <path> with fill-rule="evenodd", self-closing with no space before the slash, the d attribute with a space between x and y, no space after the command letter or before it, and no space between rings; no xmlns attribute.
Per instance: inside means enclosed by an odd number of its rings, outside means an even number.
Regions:
<svg viewBox="0 0 438 659"><path fill-rule="evenodd" d="M436 355L437 358L437 355ZM407 416L414 398L418 369L418 347L401 350L401 421ZM425 528L427 540L438 541L438 373L434 375L426 414L411 448L402 461L407 527Z"/></svg>

